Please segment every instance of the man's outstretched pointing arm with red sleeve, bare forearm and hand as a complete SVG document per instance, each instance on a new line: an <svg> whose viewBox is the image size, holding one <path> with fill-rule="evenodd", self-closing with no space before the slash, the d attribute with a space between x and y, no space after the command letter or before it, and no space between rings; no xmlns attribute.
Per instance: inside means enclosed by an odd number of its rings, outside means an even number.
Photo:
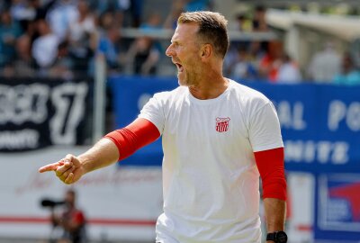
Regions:
<svg viewBox="0 0 360 243"><path fill-rule="evenodd" d="M40 167L39 172L54 171L62 182L73 184L82 175L130 156L159 136L160 133L153 123L139 118L126 128L107 134L84 154L78 157L67 155L56 163Z"/></svg>

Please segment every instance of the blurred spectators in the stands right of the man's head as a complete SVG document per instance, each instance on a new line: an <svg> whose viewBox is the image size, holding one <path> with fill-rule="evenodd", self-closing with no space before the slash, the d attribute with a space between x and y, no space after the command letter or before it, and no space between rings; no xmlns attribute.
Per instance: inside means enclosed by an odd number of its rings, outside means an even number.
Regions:
<svg viewBox="0 0 360 243"><path fill-rule="evenodd" d="M270 31L263 6L257 6L252 17L238 14L236 23L238 31ZM313 53L309 65L302 68L286 53L282 40L232 41L224 66L225 75L236 80L360 85L360 69L354 57L339 53L331 41Z"/></svg>

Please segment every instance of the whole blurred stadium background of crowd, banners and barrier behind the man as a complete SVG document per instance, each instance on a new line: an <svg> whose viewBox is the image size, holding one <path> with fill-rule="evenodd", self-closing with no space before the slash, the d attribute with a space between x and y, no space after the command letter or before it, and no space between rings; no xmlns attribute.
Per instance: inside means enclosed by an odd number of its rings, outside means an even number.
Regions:
<svg viewBox="0 0 360 243"><path fill-rule="evenodd" d="M164 52L182 10L229 20L224 72L275 103L290 242L360 240L358 1L0 2L0 242L48 242L43 198L67 186L37 169L79 154L177 85ZM94 242L153 242L161 141L74 185Z"/></svg>

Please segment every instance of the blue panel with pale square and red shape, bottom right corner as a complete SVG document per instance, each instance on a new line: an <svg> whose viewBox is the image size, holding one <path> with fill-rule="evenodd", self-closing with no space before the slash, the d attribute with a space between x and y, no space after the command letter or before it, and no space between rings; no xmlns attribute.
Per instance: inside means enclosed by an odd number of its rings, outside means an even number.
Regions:
<svg viewBox="0 0 360 243"><path fill-rule="evenodd" d="M315 238L360 240L360 174L318 177Z"/></svg>

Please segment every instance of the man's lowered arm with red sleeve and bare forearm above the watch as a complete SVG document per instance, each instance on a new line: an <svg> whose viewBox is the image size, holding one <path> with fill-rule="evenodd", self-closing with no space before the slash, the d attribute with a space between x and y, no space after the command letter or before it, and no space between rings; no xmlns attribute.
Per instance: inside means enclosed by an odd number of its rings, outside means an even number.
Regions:
<svg viewBox="0 0 360 243"><path fill-rule="evenodd" d="M258 151L254 155L263 182L267 232L284 231L286 212L284 148Z"/></svg>

